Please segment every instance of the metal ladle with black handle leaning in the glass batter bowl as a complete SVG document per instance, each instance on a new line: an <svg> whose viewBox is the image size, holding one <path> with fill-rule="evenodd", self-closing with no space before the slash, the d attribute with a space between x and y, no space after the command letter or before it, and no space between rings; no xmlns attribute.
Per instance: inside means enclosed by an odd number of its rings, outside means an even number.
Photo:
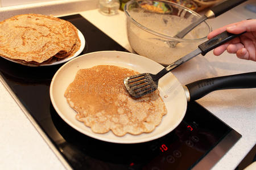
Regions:
<svg viewBox="0 0 256 170"><path fill-rule="evenodd" d="M179 33L177 33L174 37L182 39L185 35L187 35L188 32L190 32L193 28L195 28L200 23L204 22L207 19L210 18L216 18L217 16L223 14L224 12L232 9L233 7L236 7L240 5L242 2L245 2L247 0L228 0L224 1L216 6L213 6L210 8L201 18L196 20L196 22L193 22L192 24L188 25L186 28L181 30ZM174 48L179 41L166 41L168 46L171 48Z"/></svg>

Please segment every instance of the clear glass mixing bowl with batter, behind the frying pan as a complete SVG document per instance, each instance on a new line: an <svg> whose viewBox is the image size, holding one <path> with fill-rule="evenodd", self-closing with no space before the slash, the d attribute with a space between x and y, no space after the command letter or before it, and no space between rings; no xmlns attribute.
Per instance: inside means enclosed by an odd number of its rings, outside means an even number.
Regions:
<svg viewBox="0 0 256 170"><path fill-rule="evenodd" d="M212 31L203 22L183 39L174 36L201 16L170 1L131 0L126 3L127 36L134 52L164 66L197 49ZM179 41L175 47L170 41Z"/></svg>

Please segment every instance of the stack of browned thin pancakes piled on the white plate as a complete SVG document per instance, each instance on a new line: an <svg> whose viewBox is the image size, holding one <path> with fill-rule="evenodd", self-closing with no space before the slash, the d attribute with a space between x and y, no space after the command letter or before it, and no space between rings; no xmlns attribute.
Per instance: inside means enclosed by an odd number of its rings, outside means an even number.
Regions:
<svg viewBox="0 0 256 170"><path fill-rule="evenodd" d="M0 56L41 65L73 56L81 41L77 28L40 14L16 15L0 22Z"/></svg>

